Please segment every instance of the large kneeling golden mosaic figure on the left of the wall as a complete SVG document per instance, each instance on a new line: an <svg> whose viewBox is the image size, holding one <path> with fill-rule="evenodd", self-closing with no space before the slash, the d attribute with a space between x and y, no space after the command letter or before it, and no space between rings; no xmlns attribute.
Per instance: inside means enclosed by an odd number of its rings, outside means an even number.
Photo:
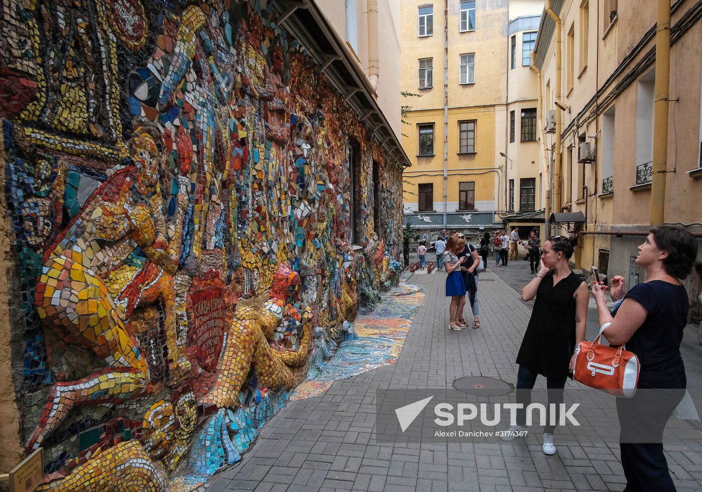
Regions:
<svg viewBox="0 0 702 492"><path fill-rule="evenodd" d="M135 166L103 183L44 254L36 295L40 319L63 343L94 352L107 369L54 385L30 449L74 405L124 401L150 390L147 362L125 320L140 293L148 294L164 272L176 271L179 237L166 238L157 137L138 128L131 148ZM187 370L182 358L177 364Z"/></svg>

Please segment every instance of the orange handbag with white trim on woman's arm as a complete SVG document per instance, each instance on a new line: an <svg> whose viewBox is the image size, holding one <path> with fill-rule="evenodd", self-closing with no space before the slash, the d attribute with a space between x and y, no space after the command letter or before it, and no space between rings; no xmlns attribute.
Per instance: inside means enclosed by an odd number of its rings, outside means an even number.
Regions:
<svg viewBox="0 0 702 492"><path fill-rule="evenodd" d="M602 325L595 341L583 340L578 345L573 378L616 397L631 398L639 383L641 365L636 354L625 350L624 345L608 347L600 344L602 332L609 325Z"/></svg>

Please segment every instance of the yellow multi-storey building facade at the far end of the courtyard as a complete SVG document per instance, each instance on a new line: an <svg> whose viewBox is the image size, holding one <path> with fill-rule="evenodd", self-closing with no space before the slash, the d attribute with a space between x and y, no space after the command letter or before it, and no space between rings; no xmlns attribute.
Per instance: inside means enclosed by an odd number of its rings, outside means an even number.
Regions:
<svg viewBox="0 0 702 492"><path fill-rule="evenodd" d="M510 179L519 182L522 160L530 164L538 160L536 135L529 142L517 138L510 144L509 111L519 113L519 132L521 108L531 107L536 128L533 94L538 90L536 74L522 67L523 29L512 32L519 34L515 47L519 64L508 73L508 29L524 24L536 33L542 8L543 2L529 0L498 0L490 8L479 1L459 0L402 5L401 86L420 95L403 100L403 105L411 106L402 125L402 145L412 164L404 172L406 222L431 232L476 233L508 223L514 211L510 211ZM515 81L511 89L510 77ZM529 90L532 95L527 98ZM517 202L518 194L517 185ZM536 210L534 202L531 211Z"/></svg>

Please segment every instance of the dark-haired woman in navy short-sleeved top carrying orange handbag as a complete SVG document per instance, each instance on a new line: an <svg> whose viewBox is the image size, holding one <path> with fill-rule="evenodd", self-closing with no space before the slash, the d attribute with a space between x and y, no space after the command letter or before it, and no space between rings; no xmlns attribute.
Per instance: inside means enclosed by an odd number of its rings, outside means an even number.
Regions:
<svg viewBox="0 0 702 492"><path fill-rule="evenodd" d="M663 430L687 387L680 343L689 299L680 279L689 275L696 257L697 241L692 234L680 227L657 227L639 246L636 258L636 264L646 271L646 281L624 295L624 279L612 279L612 300L623 298L615 317L607 308L607 288L592 286L600 326L610 323L604 329L605 338L610 345L625 343L641 364L634 397L616 401L628 492L675 491L663 456Z"/></svg>

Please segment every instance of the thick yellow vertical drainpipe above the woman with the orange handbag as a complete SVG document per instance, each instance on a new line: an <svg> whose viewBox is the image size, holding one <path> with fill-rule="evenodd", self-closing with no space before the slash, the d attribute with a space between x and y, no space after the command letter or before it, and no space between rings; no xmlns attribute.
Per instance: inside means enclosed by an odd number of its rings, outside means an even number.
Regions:
<svg viewBox="0 0 702 492"><path fill-rule="evenodd" d="M656 23L656 98L651 170L651 225L663 225L665 171L668 168L668 95L670 91L670 0L658 0Z"/></svg>

